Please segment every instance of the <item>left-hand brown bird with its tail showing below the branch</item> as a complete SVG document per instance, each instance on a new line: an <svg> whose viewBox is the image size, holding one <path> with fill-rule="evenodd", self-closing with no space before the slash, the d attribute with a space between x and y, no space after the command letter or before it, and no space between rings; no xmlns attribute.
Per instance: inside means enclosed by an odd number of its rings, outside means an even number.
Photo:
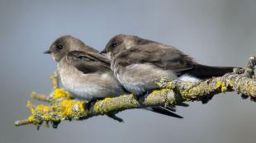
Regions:
<svg viewBox="0 0 256 143"><path fill-rule="evenodd" d="M60 81L65 90L76 99L87 100L92 105L97 99L116 97L128 92L116 80L111 71L111 61L95 48L84 44L82 40L71 35L59 37L45 53L51 54L57 64ZM89 108L89 107L88 107ZM146 108L155 113L183 118L173 113L174 108ZM107 116L123 122L114 114Z"/></svg>

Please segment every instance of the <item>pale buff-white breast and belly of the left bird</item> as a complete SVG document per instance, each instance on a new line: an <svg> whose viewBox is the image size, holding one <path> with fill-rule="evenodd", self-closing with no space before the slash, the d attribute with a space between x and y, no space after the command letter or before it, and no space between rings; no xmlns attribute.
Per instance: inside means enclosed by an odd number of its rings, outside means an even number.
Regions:
<svg viewBox="0 0 256 143"><path fill-rule="evenodd" d="M65 90L78 99L98 99L124 94L111 73L84 74L74 67L58 65L59 76Z"/></svg>

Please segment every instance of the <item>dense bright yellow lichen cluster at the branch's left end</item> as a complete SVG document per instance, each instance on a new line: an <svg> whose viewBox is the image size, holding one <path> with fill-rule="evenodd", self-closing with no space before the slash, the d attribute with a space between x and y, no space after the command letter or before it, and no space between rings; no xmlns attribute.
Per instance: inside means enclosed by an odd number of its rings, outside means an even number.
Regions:
<svg viewBox="0 0 256 143"><path fill-rule="evenodd" d="M55 90L54 95L53 98L69 97L69 93L62 89ZM34 106L31 101L28 101L26 106L30 108L31 116L27 120L36 125L41 125L44 121L53 122L53 127L55 127L58 122L67 118L83 118L85 116L84 104L84 101L66 98L53 101L49 106Z"/></svg>

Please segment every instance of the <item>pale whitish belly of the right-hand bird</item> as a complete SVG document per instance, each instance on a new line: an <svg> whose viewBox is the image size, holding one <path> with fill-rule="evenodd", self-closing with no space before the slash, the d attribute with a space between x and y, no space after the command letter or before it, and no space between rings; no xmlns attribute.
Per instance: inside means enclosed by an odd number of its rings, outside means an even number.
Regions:
<svg viewBox="0 0 256 143"><path fill-rule="evenodd" d="M148 90L157 89L158 85L155 82L160 81L163 77L169 80L178 78L173 71L162 70L150 63L133 64L127 67L115 66L114 74L126 90L135 95L141 95Z"/></svg>

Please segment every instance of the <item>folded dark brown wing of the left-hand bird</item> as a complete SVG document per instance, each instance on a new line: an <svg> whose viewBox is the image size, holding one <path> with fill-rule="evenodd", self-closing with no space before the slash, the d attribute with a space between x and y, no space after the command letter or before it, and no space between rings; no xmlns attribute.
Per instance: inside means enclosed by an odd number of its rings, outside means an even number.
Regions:
<svg viewBox="0 0 256 143"><path fill-rule="evenodd" d="M96 71L111 71L110 61L100 53L70 51L67 61L83 73Z"/></svg>

